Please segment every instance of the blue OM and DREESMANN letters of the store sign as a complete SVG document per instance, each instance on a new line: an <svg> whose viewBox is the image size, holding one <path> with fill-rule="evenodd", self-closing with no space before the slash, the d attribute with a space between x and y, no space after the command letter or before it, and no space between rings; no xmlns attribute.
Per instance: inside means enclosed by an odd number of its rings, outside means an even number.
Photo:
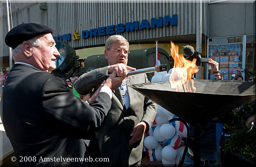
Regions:
<svg viewBox="0 0 256 167"><path fill-rule="evenodd" d="M172 14L172 18L167 15L165 17L151 18L150 23L147 19L134 22L128 22L125 24L119 23L111 26L99 27L97 29L83 30L81 32L81 38L97 37L102 35L111 35L115 33L131 32L143 29L154 29L156 27L163 27L169 25L177 25L177 14ZM71 40L71 34L59 35L53 37L54 40Z"/></svg>

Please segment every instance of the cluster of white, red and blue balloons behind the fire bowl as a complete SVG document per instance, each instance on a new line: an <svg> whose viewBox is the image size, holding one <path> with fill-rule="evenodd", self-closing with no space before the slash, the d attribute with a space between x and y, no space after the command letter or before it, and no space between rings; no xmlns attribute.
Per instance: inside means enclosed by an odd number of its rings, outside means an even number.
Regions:
<svg viewBox="0 0 256 167"><path fill-rule="evenodd" d="M169 81L172 69L167 73L157 72L151 82ZM145 137L144 146L153 150L154 158L162 161L164 166L179 164L185 146L180 147L182 137L187 137L186 126L180 121L169 123L172 118L177 118L165 108L157 104L157 115L154 121L157 123L151 127L153 134Z"/></svg>

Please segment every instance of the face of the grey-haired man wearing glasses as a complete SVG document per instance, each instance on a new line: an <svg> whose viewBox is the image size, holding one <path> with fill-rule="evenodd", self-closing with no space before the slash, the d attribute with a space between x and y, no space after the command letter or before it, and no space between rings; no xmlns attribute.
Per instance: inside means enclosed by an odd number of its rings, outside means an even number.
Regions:
<svg viewBox="0 0 256 167"><path fill-rule="evenodd" d="M117 53L119 50L122 50L123 52ZM105 58L108 60L109 65L117 64L117 63L123 63L127 65L128 61L128 54L125 52L128 52L128 45L120 45L119 43L112 43L109 50L105 50Z"/></svg>

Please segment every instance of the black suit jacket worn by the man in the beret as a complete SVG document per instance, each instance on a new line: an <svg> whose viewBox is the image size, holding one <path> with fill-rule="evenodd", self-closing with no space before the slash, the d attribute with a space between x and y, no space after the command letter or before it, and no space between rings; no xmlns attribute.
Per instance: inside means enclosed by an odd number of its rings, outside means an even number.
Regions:
<svg viewBox="0 0 256 167"><path fill-rule="evenodd" d="M111 107L107 93L99 93L90 107L72 94L63 79L32 66L15 64L2 100L3 125L17 160L20 156L35 156L37 160L23 159L21 165L86 164L76 160L43 162L39 161L41 157L99 158L95 131Z"/></svg>

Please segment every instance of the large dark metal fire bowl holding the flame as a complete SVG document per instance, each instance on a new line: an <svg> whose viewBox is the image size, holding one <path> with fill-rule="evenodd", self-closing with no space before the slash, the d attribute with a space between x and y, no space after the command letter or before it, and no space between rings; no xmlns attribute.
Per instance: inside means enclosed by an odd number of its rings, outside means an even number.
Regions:
<svg viewBox="0 0 256 167"><path fill-rule="evenodd" d="M131 87L192 125L204 124L220 117L224 112L255 100L254 82L193 81L196 92L176 92L168 81L136 84Z"/></svg>

